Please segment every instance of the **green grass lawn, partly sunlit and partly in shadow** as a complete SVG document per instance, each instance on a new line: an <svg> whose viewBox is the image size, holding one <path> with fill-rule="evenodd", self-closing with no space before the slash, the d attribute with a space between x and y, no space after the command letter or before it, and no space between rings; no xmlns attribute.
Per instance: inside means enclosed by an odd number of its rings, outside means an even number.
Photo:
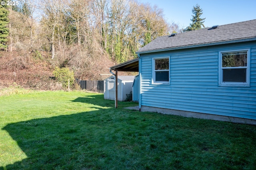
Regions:
<svg viewBox="0 0 256 170"><path fill-rule="evenodd" d="M256 127L122 109L82 91L0 96L0 169L255 169Z"/></svg>

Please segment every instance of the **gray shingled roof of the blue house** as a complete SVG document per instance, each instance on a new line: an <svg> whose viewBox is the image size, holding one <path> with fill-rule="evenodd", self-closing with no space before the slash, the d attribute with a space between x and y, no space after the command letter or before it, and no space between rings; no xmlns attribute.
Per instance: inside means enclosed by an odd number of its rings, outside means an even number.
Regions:
<svg viewBox="0 0 256 170"><path fill-rule="evenodd" d="M204 46L212 43L227 43L234 40L256 38L256 20L218 26L216 29L203 28L176 34L175 36L158 37L136 53L147 53L161 50Z"/></svg>

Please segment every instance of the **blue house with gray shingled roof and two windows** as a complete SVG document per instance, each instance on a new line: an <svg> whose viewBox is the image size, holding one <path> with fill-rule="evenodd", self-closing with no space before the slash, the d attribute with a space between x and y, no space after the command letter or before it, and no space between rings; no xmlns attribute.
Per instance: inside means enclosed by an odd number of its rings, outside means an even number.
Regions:
<svg viewBox="0 0 256 170"><path fill-rule="evenodd" d="M136 53L141 111L256 125L256 20L162 36Z"/></svg>

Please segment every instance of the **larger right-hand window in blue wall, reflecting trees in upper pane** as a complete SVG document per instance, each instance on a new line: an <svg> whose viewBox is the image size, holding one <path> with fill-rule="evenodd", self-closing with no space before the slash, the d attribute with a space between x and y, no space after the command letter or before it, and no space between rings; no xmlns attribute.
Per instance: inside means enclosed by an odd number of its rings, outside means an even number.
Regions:
<svg viewBox="0 0 256 170"><path fill-rule="evenodd" d="M220 52L220 85L249 86L249 49Z"/></svg>

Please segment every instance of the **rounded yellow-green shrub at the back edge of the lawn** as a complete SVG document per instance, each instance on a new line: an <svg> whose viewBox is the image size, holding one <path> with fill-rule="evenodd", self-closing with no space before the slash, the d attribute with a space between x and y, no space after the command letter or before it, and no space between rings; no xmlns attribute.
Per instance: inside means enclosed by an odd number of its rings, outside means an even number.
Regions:
<svg viewBox="0 0 256 170"><path fill-rule="evenodd" d="M62 87L68 87L68 79L70 81L70 87L74 85L74 72L70 71L68 67L59 68L55 67L53 74L57 81L62 83Z"/></svg>

